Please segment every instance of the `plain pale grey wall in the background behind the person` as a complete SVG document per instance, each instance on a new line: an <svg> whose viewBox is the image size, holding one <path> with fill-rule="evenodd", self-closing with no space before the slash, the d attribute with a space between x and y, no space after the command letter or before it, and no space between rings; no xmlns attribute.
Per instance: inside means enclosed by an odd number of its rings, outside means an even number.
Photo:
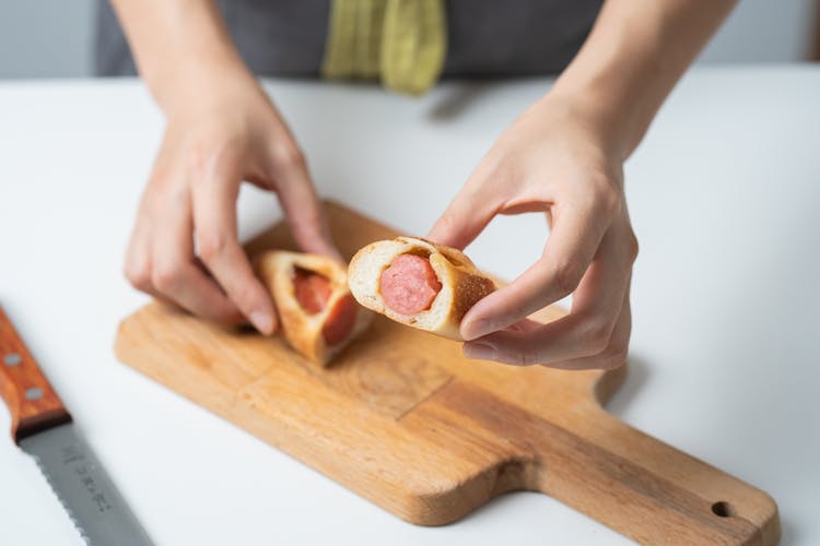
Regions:
<svg viewBox="0 0 820 546"><path fill-rule="evenodd" d="M91 75L96 0L0 0L0 78ZM815 0L741 0L702 62L808 59Z"/></svg>

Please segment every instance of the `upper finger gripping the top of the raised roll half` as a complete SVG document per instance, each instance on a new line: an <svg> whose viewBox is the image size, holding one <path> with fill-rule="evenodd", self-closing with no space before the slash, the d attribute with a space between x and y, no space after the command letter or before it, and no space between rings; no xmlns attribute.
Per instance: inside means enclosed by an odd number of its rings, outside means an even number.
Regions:
<svg viewBox="0 0 820 546"><path fill-rule="evenodd" d="M456 193L426 238L440 245L464 250L501 211L503 197L487 195L483 167L479 167ZM495 185L502 187L502 185Z"/></svg>

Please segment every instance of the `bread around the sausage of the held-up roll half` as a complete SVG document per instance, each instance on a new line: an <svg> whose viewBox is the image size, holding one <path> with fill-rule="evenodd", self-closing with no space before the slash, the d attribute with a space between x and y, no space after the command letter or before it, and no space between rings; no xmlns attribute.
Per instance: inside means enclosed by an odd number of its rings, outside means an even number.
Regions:
<svg viewBox="0 0 820 546"><path fill-rule="evenodd" d="M393 311L379 293L382 272L393 259L403 253L429 258L442 283L431 308L414 316ZM353 296L364 307L397 322L457 341L464 341L459 333L464 316L495 289L495 283L460 250L415 237L397 237L367 245L351 260L348 275Z"/></svg>

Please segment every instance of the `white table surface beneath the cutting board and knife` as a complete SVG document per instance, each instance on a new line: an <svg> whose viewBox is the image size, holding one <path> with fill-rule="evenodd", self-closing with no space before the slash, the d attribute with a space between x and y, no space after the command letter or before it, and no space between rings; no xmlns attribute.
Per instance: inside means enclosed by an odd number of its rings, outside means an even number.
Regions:
<svg viewBox="0 0 820 546"><path fill-rule="evenodd" d="M550 82L418 100L267 84L324 195L421 234ZM120 365L117 322L147 300L121 260L162 127L136 81L0 84L0 301L157 544L630 544L537 494L444 527L405 523ZM769 491L783 544L820 544L820 66L694 70L626 185L641 256L632 369L611 411ZM243 236L279 216L250 188L239 204ZM470 253L513 277L543 224L502 218ZM0 543L80 544L8 434Z"/></svg>

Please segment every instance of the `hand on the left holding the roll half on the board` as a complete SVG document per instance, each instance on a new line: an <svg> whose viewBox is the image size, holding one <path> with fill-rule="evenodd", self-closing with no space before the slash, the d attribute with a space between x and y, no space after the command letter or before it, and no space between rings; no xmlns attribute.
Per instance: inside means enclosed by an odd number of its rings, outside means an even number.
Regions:
<svg viewBox="0 0 820 546"><path fill-rule="evenodd" d="M137 288L195 314L277 328L268 290L237 240L243 180L277 192L298 246L339 258L304 156L249 75L211 82L166 108L165 136L128 246Z"/></svg>

